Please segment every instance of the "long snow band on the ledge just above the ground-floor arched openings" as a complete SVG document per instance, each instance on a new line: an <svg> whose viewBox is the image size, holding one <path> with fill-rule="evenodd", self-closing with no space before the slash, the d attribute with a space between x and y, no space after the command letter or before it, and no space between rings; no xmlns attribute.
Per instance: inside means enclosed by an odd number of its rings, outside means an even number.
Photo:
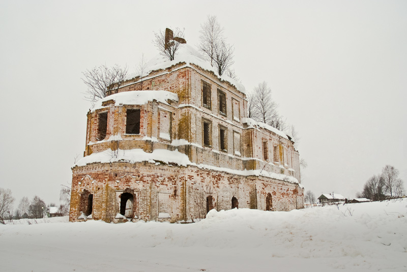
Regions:
<svg viewBox="0 0 407 272"><path fill-rule="evenodd" d="M119 149L117 155L113 155L111 149L107 149L103 152L92 153L89 156L83 157L74 166L85 166L86 164L92 163L111 163L111 162L150 162L159 164L156 161L164 162L166 164L176 163L180 166L196 166L202 169L209 169L215 171L223 171L231 174L244 175L244 176L266 176L279 180L284 180L289 183L299 184L298 179L293 176L287 176L284 174L278 174L273 172L268 172L266 170L235 170L225 167L218 167L206 164L196 164L189 160L188 156L179 152L177 150L167 150L167 149L154 149L152 153L144 152L142 149ZM299 184L301 187L301 184ZM302 187L301 187L302 188Z"/></svg>

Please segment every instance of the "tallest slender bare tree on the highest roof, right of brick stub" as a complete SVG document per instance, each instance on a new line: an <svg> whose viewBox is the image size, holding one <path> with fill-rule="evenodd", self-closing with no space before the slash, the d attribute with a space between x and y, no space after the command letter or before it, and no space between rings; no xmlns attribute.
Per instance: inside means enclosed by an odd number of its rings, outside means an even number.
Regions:
<svg viewBox="0 0 407 272"><path fill-rule="evenodd" d="M211 61L213 66L213 60L215 59L215 48L219 43L224 41L223 28L218 23L216 16L208 15L208 19L205 23L200 25L199 51L203 53L203 56Z"/></svg>

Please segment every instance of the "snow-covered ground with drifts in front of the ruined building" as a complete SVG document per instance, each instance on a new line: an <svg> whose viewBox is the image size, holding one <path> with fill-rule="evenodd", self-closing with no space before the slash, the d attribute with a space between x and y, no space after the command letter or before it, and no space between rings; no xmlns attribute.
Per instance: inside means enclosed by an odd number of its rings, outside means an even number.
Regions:
<svg viewBox="0 0 407 272"><path fill-rule="evenodd" d="M212 210L194 224L67 221L0 225L1 270L407 271L407 199Z"/></svg>

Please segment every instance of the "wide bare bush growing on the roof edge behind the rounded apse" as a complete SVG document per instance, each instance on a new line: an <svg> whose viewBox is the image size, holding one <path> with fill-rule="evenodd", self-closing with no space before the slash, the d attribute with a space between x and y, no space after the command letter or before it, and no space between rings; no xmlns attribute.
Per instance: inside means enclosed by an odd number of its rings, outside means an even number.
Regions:
<svg viewBox="0 0 407 272"><path fill-rule="evenodd" d="M85 99L94 104L99 99L118 93L126 78L127 66L120 67L116 64L109 68L101 65L92 70L86 70L82 74L84 76L82 81L88 86Z"/></svg>

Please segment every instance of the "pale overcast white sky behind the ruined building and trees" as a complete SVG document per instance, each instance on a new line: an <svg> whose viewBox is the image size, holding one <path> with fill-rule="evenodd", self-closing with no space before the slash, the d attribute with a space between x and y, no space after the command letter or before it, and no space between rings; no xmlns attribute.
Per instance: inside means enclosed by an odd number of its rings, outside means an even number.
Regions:
<svg viewBox="0 0 407 272"><path fill-rule="evenodd" d="M196 45L208 14L246 89L267 81L300 132L305 190L352 198L386 164L406 187L407 2L117 2L0 0L0 187L15 207L23 196L59 203L70 183L91 107L81 72L131 72L165 27Z"/></svg>

